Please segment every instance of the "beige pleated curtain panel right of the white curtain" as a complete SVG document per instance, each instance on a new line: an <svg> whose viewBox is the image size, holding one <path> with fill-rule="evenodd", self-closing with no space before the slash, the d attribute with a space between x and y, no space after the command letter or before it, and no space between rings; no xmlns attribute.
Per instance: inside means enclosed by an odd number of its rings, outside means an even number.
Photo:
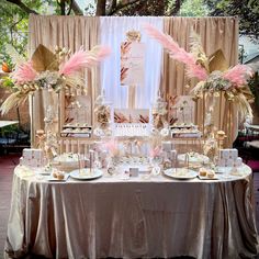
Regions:
<svg viewBox="0 0 259 259"><path fill-rule="evenodd" d="M189 50L191 29L201 35L204 50L207 55L213 54L217 49L222 49L229 66L236 65L238 61L238 19L237 18L165 18L164 31L179 43L180 47ZM195 80L188 80L184 75L184 66L169 58L165 53L161 90L166 94L182 95L188 94L190 89L184 86L194 86ZM202 125L202 105L198 103L196 122ZM219 103L219 102L218 102ZM232 108L232 120L229 125L229 113L227 114L225 101L222 102L222 111L225 111L221 125L218 121L219 105L215 110L215 125L224 130L228 134L226 145L230 146L237 133L237 114ZM206 105L207 106L207 105ZM232 105L233 106L233 105ZM226 123L228 122L228 123ZM226 127L228 125L228 128Z"/></svg>

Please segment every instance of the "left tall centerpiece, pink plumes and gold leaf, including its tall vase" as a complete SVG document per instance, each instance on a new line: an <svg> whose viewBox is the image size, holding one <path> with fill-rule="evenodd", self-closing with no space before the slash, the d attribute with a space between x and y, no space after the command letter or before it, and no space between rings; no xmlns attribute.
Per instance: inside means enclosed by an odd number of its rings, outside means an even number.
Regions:
<svg viewBox="0 0 259 259"><path fill-rule="evenodd" d="M14 71L10 77L13 81L13 92L2 103L2 114L24 103L30 95L34 97L35 105L43 106L43 114L35 117L44 119L44 147L46 154L55 156L58 142L56 137L58 125L58 98L60 90L75 90L83 87L85 82L79 72L83 68L91 68L110 54L110 48L95 46L91 50L82 47L71 54L71 50L56 47L50 52L47 47L38 45L32 58L25 60L12 47L7 48L15 64ZM42 104L42 105L41 105ZM33 121L33 124L36 122ZM34 135L38 135L37 132ZM34 140L34 139L33 139Z"/></svg>

